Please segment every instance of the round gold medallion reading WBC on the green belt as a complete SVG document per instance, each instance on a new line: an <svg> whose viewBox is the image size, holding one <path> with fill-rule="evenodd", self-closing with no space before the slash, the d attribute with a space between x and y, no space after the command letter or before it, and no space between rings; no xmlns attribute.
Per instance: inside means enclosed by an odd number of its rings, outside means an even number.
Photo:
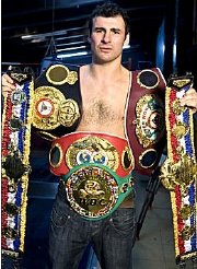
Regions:
<svg viewBox="0 0 197 269"><path fill-rule="evenodd" d="M72 173L66 183L66 189L71 207L83 217L103 217L118 199L115 178L96 166L82 167Z"/></svg>

